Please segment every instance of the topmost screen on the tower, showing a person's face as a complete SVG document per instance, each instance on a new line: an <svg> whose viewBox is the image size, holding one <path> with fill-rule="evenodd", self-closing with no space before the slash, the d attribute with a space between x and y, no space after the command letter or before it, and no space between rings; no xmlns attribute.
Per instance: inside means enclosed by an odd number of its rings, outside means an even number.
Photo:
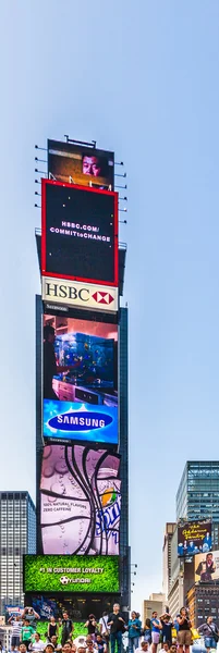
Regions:
<svg viewBox="0 0 219 653"><path fill-rule="evenodd" d="M114 153L48 140L48 176L58 182L113 190Z"/></svg>

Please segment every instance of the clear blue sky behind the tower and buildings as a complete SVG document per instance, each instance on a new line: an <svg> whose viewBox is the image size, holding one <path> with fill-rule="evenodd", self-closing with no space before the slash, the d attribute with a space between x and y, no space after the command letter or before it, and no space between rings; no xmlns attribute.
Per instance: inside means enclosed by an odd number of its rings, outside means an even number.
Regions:
<svg viewBox="0 0 219 653"><path fill-rule="evenodd" d="M35 498L34 145L94 138L129 175L137 609L186 458L218 457L219 3L2 0L1 22L1 489Z"/></svg>

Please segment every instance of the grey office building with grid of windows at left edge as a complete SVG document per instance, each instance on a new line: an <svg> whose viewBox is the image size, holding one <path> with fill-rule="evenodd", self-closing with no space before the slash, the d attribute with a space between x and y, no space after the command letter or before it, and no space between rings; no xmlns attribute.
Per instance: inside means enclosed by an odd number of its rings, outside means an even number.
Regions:
<svg viewBox="0 0 219 653"><path fill-rule="evenodd" d="M23 605L23 554L36 553L36 508L28 492L0 492L0 614Z"/></svg>

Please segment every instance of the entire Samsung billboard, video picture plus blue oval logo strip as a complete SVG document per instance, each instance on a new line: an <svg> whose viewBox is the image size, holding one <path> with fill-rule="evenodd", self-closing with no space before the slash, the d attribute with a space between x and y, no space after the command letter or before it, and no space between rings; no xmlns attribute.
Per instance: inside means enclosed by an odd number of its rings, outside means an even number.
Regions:
<svg viewBox="0 0 219 653"><path fill-rule="evenodd" d="M118 326L44 315L45 442L118 444Z"/></svg>

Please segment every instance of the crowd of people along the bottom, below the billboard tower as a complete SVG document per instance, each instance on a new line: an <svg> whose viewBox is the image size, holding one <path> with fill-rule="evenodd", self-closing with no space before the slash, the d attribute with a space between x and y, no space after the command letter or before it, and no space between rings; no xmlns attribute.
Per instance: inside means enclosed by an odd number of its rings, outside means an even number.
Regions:
<svg viewBox="0 0 219 653"><path fill-rule="evenodd" d="M194 634L191 628L188 612L182 607L175 619L169 613L158 617L154 612L150 619L142 625L139 614L131 613L125 620L119 603L114 603L110 614L104 613L97 620L90 614L85 623L87 634L74 638L74 624L66 612L62 618L51 617L45 632L46 641L37 631L39 615L33 607L26 607L21 616L11 617L11 651L20 653L121 653L124 650L124 638L129 642L129 653L190 653L193 638L203 637L207 653L217 649L219 631L209 616Z"/></svg>

